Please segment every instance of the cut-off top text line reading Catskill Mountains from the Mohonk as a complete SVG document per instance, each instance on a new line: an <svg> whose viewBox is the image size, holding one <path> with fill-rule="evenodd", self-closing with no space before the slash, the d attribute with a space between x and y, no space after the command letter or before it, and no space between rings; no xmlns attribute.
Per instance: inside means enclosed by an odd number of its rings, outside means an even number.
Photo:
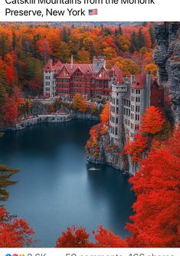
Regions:
<svg viewBox="0 0 180 256"><path fill-rule="evenodd" d="M121 5L155 5L157 0L5 0L8 5L61 5L61 4L121 4Z"/></svg>

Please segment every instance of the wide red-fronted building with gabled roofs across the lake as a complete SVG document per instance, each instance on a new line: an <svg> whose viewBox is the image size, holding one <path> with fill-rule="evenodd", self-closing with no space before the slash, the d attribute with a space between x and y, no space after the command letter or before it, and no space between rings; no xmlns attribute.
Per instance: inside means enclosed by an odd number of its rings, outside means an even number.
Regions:
<svg viewBox="0 0 180 256"><path fill-rule="evenodd" d="M119 68L106 69L106 58L93 57L92 64L62 64L53 65L49 60L44 66L44 97L73 98L80 93L84 98L101 96L108 98L113 81L119 78Z"/></svg>

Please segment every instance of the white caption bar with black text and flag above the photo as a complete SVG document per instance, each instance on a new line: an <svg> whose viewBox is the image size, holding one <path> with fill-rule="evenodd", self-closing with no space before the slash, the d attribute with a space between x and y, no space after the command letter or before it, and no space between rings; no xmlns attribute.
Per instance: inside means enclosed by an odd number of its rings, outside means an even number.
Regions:
<svg viewBox="0 0 180 256"><path fill-rule="evenodd" d="M1 0L0 22L179 22L179 10L179 0Z"/></svg>

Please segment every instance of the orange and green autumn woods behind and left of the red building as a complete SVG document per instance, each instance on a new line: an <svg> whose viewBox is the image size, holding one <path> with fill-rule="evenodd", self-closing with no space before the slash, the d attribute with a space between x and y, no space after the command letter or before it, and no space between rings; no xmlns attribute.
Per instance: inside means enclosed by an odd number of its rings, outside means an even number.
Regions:
<svg viewBox="0 0 180 256"><path fill-rule="evenodd" d="M23 98L42 94L42 67L48 58L70 62L74 55L74 62L90 63L94 55L105 55L106 67L117 63L124 75L147 68L155 74L153 26L0 25L1 125L13 125L21 116Z"/></svg>

